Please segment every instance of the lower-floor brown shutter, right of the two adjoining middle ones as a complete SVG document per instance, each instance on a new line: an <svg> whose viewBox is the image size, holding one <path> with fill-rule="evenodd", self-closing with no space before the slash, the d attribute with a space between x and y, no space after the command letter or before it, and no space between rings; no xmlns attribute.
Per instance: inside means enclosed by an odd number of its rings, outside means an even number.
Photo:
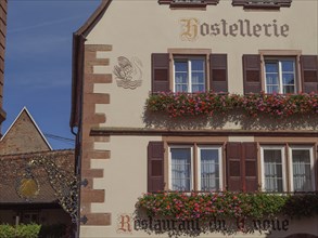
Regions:
<svg viewBox="0 0 318 238"><path fill-rule="evenodd" d="M257 180L257 144L242 143L242 158L244 163L244 190L255 191L258 189Z"/></svg>

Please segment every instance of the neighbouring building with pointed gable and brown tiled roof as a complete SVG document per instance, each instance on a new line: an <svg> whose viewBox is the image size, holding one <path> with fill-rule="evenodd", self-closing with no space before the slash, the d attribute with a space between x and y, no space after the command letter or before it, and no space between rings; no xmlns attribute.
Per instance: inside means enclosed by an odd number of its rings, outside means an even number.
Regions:
<svg viewBox="0 0 318 238"><path fill-rule="evenodd" d="M0 224L73 226L54 177L74 173L74 150L52 150L26 108L0 140Z"/></svg>

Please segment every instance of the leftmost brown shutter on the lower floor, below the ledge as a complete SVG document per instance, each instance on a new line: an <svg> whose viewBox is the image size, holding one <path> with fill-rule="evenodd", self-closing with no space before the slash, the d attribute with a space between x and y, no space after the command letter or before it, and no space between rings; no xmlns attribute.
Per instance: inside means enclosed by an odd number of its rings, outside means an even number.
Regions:
<svg viewBox="0 0 318 238"><path fill-rule="evenodd" d="M149 142L148 145L148 191L165 189L164 183L164 143Z"/></svg>

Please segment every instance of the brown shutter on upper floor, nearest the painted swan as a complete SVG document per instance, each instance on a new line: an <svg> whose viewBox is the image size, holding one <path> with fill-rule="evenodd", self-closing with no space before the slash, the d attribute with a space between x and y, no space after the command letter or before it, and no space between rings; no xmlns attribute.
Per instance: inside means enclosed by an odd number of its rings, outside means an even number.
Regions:
<svg viewBox="0 0 318 238"><path fill-rule="evenodd" d="M169 90L169 54L160 53L151 55L152 64L152 92L168 92Z"/></svg>

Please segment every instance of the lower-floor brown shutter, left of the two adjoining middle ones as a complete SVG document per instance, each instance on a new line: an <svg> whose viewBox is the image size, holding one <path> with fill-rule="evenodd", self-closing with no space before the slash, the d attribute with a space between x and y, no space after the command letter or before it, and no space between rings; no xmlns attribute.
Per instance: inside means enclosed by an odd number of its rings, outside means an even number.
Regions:
<svg viewBox="0 0 318 238"><path fill-rule="evenodd" d="M242 149L241 143L227 144L227 187L229 190L239 191L242 186Z"/></svg>

